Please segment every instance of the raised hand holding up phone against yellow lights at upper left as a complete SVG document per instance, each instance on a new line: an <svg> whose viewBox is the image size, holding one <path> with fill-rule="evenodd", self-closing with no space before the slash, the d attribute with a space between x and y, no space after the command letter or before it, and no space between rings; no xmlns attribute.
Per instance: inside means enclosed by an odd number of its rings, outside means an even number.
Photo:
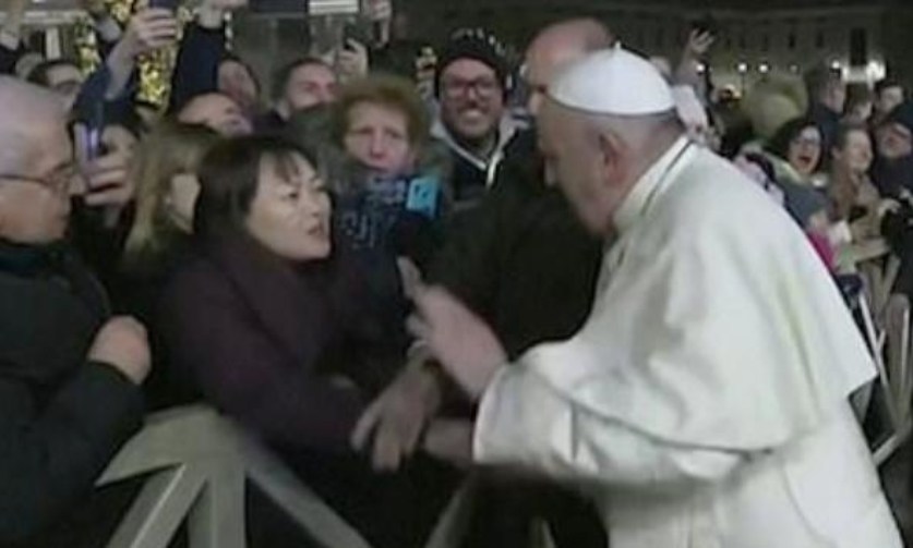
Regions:
<svg viewBox="0 0 913 548"><path fill-rule="evenodd" d="M145 9L133 15L127 32L106 61L111 72L106 98L113 99L121 94L139 57L173 45L179 28L180 24L170 10Z"/></svg>

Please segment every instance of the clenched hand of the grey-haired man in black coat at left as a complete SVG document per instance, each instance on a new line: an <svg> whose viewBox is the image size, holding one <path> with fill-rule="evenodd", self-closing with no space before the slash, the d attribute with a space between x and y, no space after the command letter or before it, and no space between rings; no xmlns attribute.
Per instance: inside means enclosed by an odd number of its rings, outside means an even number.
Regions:
<svg viewBox="0 0 913 548"><path fill-rule="evenodd" d="M109 365L133 383L142 385L152 367L146 329L127 316L109 319L95 336L88 360Z"/></svg>

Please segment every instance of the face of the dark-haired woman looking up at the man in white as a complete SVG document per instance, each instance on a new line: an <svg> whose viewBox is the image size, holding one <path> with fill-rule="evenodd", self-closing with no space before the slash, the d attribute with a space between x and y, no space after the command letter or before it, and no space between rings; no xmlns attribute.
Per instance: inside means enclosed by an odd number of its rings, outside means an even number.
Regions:
<svg viewBox="0 0 913 548"><path fill-rule="evenodd" d="M276 255L296 261L326 258L332 249L329 196L303 157L266 157L245 221L248 233Z"/></svg>

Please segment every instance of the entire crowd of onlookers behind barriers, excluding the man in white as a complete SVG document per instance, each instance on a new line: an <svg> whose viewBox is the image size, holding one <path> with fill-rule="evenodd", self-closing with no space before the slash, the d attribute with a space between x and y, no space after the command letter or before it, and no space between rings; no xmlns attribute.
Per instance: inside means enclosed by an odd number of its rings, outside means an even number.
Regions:
<svg viewBox="0 0 913 548"><path fill-rule="evenodd" d="M413 299L446 288L506 361L585 325L606 242L555 184L586 166L546 161L540 125L557 75L617 47L611 22L544 28L521 66L480 28L437 45L432 68L427 45L347 37L302 51L267 93L226 38L244 0L203 0L182 29L160 8L121 27L87 0L103 57L88 75L29 51L27 2L8 3L0 544L47 543L144 413L205 401L374 546L420 546L472 461L478 402L407 329ZM782 206L833 276L885 240L904 265L898 291L913 292L904 87L848 98L839 73L815 69L737 98L699 71L712 42L696 28L676 66L651 59L675 126ZM137 100L139 60L175 46L167 106ZM534 520L558 546L606 546L579 489L482 478L465 546L529 546Z"/></svg>

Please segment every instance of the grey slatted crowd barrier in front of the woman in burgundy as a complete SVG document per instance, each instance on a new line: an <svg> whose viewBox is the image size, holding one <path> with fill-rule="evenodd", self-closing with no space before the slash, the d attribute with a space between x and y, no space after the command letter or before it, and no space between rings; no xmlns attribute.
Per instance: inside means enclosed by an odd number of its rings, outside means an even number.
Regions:
<svg viewBox="0 0 913 548"><path fill-rule="evenodd" d="M152 415L103 474L107 485L151 474L108 548L167 548L187 519L190 548L245 548L244 490L253 482L325 548L371 545L283 462L212 409ZM455 548L472 483L456 494L428 548Z"/></svg>

